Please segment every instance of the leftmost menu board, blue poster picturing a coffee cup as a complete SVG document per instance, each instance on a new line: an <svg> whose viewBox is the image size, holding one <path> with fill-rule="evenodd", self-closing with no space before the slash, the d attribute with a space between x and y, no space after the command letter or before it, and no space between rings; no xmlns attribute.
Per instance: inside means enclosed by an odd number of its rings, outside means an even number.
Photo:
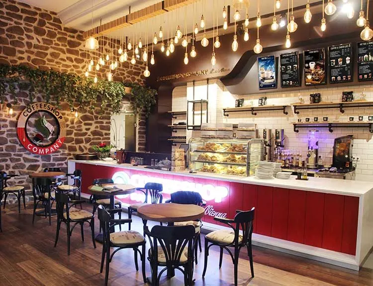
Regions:
<svg viewBox="0 0 373 286"><path fill-rule="evenodd" d="M276 61L275 56L258 58L259 89L276 89Z"/></svg>

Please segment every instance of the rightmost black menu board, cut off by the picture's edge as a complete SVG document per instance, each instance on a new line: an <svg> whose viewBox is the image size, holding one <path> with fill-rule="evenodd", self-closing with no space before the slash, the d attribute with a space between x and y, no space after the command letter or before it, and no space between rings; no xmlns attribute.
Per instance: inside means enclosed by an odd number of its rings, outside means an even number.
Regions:
<svg viewBox="0 0 373 286"><path fill-rule="evenodd" d="M358 43L358 80L372 81L373 41Z"/></svg>

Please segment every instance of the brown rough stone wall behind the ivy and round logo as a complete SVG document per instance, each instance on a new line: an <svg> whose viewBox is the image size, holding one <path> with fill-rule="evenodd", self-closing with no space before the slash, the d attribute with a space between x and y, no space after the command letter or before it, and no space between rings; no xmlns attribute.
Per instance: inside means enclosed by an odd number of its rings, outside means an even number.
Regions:
<svg viewBox="0 0 373 286"><path fill-rule="evenodd" d="M106 40L100 44L106 44ZM87 56L83 32L65 27L56 13L12 0L0 0L0 63L83 75ZM120 64L114 80L142 84L143 69L141 65L130 66L128 62ZM101 68L97 76L102 78L106 71ZM67 160L74 158L74 154L88 152L93 144L109 143L109 107L101 114L97 102L93 110L79 109L79 117L75 118L68 104L62 103L61 110L67 123L65 143L51 155L31 154L19 143L15 129L20 111L29 103L28 90L23 85L17 86L16 97L20 104L15 106L12 117L7 116L6 102L12 102L13 98L10 94L5 97L0 108L0 171L20 175L9 180L9 185L24 185L30 192L29 173L45 167L61 167L67 171ZM36 95L35 101L44 101L42 95ZM123 99L123 108L131 110L129 98ZM145 150L144 116L139 116L138 126L138 149Z"/></svg>

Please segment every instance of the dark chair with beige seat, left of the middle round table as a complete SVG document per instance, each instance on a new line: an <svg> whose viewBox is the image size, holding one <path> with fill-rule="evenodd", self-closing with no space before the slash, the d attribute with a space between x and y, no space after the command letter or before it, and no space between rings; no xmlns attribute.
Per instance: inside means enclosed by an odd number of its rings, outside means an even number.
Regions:
<svg viewBox="0 0 373 286"><path fill-rule="evenodd" d="M83 225L88 222L91 226L93 247L96 248L94 241L94 215L92 212L75 208L78 203L83 203L82 200L71 200L70 196L64 193L56 192L56 209L57 209L57 230L56 241L54 247L57 246L58 236L60 234L61 223L66 224L67 230L67 254L70 255L70 238L76 225L80 225L82 233L82 241L84 241ZM70 225L73 224L72 227Z"/></svg>

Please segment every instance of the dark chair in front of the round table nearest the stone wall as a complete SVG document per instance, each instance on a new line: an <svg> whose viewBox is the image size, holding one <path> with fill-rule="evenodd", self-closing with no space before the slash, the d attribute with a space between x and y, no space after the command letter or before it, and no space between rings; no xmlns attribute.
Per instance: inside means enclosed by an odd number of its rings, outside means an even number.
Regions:
<svg viewBox="0 0 373 286"><path fill-rule="evenodd" d="M51 225L51 212L52 212L52 201L54 198L51 196L52 180L48 178L33 178L32 179L32 195L34 197L34 208L32 212L32 224L35 221L35 215L41 215L36 213L36 207L39 203L44 207L44 215L49 216L49 225Z"/></svg>

